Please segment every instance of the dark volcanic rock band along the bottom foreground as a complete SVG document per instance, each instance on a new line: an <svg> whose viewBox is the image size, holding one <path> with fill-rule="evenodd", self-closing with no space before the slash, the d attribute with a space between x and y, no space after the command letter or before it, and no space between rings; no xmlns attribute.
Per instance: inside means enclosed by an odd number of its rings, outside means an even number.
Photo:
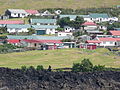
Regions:
<svg viewBox="0 0 120 90"><path fill-rule="evenodd" d="M120 90L120 72L23 72L0 68L0 90Z"/></svg>

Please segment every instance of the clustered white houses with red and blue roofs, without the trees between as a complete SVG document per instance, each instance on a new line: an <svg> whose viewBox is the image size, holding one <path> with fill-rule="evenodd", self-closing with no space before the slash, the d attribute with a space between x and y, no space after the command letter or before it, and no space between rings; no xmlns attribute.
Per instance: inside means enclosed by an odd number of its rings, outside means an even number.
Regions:
<svg viewBox="0 0 120 90"><path fill-rule="evenodd" d="M28 32L28 28L33 28L35 34L31 36L14 36L8 35L8 43L26 46L36 47L42 50L57 49L57 48L87 48L96 49L97 47L119 47L120 46L120 28L110 30L109 33L104 35L103 31L107 30L106 26L98 23L102 22L118 22L117 17L112 17L106 13L90 13L89 15L62 15L60 10L56 10L54 14L49 11L43 13L37 10L23 10L23 9L8 9L5 11L5 15L10 18L24 18L29 15L35 16L54 16L59 15L59 18L69 17L70 20L75 20L77 16L83 17L86 21L83 23L83 27L79 30L64 26L64 31L57 31L60 26L57 25L57 19L34 19L31 18L28 24L25 24L22 20L0 20L0 27L6 27L9 33ZM82 31L87 35L80 36L82 39L79 43L77 39L73 37L73 33L76 31ZM42 36L42 35L53 36ZM70 39L71 42L62 42L62 40Z"/></svg>

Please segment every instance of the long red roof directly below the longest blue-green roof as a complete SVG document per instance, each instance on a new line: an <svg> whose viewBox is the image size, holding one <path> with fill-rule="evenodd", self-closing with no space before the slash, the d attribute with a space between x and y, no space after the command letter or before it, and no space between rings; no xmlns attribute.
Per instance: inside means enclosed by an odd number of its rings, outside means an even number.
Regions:
<svg viewBox="0 0 120 90"><path fill-rule="evenodd" d="M62 43L60 40L32 40L32 39L24 39L23 41L28 43Z"/></svg>

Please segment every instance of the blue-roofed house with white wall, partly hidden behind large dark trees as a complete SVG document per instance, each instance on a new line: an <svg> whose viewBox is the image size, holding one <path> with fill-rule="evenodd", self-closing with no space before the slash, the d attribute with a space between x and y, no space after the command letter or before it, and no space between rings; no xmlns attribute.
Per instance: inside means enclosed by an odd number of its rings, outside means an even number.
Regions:
<svg viewBox="0 0 120 90"><path fill-rule="evenodd" d="M64 18L64 17L69 17L70 20L75 20L75 18L79 16L79 17L83 17L84 18L84 21L88 21L88 22L91 22L91 18L89 17L89 15L59 15L60 18Z"/></svg>

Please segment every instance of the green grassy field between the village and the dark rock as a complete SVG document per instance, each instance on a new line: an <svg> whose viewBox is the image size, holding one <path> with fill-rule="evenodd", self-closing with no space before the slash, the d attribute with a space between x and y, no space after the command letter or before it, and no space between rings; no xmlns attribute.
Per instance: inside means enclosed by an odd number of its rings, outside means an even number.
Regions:
<svg viewBox="0 0 120 90"><path fill-rule="evenodd" d="M28 51L20 53L0 54L0 67L20 68L23 65L43 65L47 68L72 67L73 63L89 58L94 65L105 65L107 67L120 67L120 57L112 54L106 49L82 50L62 49L46 51Z"/></svg>

